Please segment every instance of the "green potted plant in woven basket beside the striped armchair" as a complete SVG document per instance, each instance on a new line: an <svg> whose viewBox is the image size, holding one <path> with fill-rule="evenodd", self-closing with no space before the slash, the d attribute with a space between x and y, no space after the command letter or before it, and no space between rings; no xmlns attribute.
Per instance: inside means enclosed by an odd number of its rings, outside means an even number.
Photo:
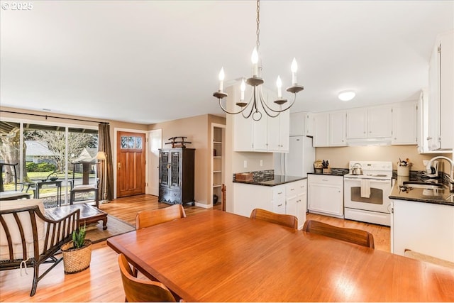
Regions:
<svg viewBox="0 0 454 303"><path fill-rule="evenodd" d="M86 270L92 260L92 241L85 239L86 226L72 231L72 241L62 245L65 274Z"/></svg>

